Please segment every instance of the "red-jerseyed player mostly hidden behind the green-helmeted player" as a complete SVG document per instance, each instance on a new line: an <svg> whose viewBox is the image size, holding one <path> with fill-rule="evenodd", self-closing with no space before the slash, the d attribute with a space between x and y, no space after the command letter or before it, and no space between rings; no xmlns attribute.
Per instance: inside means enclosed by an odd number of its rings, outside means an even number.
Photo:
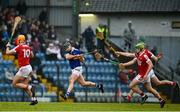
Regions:
<svg viewBox="0 0 180 112"><path fill-rule="evenodd" d="M145 44L145 43L142 43ZM161 55L158 55L157 57L154 56L151 51L149 51L148 49L144 49L146 55L150 58L153 59L154 61L159 61L161 59ZM122 56L126 56L126 57L135 57L135 53L129 53L129 52L116 52L117 55L122 55ZM159 80L158 77L154 74L153 69L150 71L151 76L150 79L152 81L152 83L154 83L156 86L159 85L170 85L170 86L175 86L177 83L176 82L172 82L169 80ZM130 90L130 92L127 94L127 96L123 96L123 98L125 100L130 101L132 96L133 96L134 92L132 90ZM143 103L143 102L142 102Z"/></svg>

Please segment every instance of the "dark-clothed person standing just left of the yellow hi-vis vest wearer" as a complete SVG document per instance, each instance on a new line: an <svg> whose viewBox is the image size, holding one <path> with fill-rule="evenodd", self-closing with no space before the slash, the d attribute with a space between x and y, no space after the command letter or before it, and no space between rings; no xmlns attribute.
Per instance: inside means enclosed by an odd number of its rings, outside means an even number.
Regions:
<svg viewBox="0 0 180 112"><path fill-rule="evenodd" d="M85 39L85 46L88 52L93 51L94 46L94 31L92 30L91 26L88 26L84 32L82 33L82 37Z"/></svg>

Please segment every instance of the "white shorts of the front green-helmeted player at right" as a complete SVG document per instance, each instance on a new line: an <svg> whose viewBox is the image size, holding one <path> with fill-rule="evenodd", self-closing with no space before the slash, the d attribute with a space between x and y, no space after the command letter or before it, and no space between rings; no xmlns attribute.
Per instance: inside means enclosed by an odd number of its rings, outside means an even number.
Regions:
<svg viewBox="0 0 180 112"><path fill-rule="evenodd" d="M143 80L139 74L135 77L135 79L142 82L142 83L145 83L145 82L151 82L151 78L154 76L155 76L154 71L153 71L153 69L151 69L151 71L147 75L146 80Z"/></svg>

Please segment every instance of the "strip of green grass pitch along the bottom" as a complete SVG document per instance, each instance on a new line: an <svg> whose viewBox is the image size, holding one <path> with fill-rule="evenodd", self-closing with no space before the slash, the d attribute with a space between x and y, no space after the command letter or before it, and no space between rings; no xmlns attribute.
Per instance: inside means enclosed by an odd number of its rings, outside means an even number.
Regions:
<svg viewBox="0 0 180 112"><path fill-rule="evenodd" d="M0 102L0 111L179 111L180 104L166 104L160 108L159 104L146 103L45 103L39 102L30 106L29 102Z"/></svg>

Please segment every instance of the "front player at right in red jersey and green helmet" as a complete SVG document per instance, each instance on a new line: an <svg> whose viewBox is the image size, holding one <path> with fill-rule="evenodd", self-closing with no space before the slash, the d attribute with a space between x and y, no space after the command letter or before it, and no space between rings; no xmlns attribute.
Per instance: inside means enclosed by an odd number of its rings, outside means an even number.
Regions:
<svg viewBox="0 0 180 112"><path fill-rule="evenodd" d="M152 93L156 98L160 101L161 108L164 107L165 100L160 96L160 94L152 88L151 86L151 76L154 74L152 72L153 64L152 61L149 59L146 50L144 49L144 43L138 43L136 45L136 53L133 60L127 62L127 63L121 63L120 66L126 67L129 65L134 64L135 62L138 63L138 75L132 80L132 82L129 84L129 87L133 90L133 92L136 92L142 96L142 103L146 101L148 98L147 95L144 94L143 91L141 91L136 85L139 83L143 83L145 88Z"/></svg>

